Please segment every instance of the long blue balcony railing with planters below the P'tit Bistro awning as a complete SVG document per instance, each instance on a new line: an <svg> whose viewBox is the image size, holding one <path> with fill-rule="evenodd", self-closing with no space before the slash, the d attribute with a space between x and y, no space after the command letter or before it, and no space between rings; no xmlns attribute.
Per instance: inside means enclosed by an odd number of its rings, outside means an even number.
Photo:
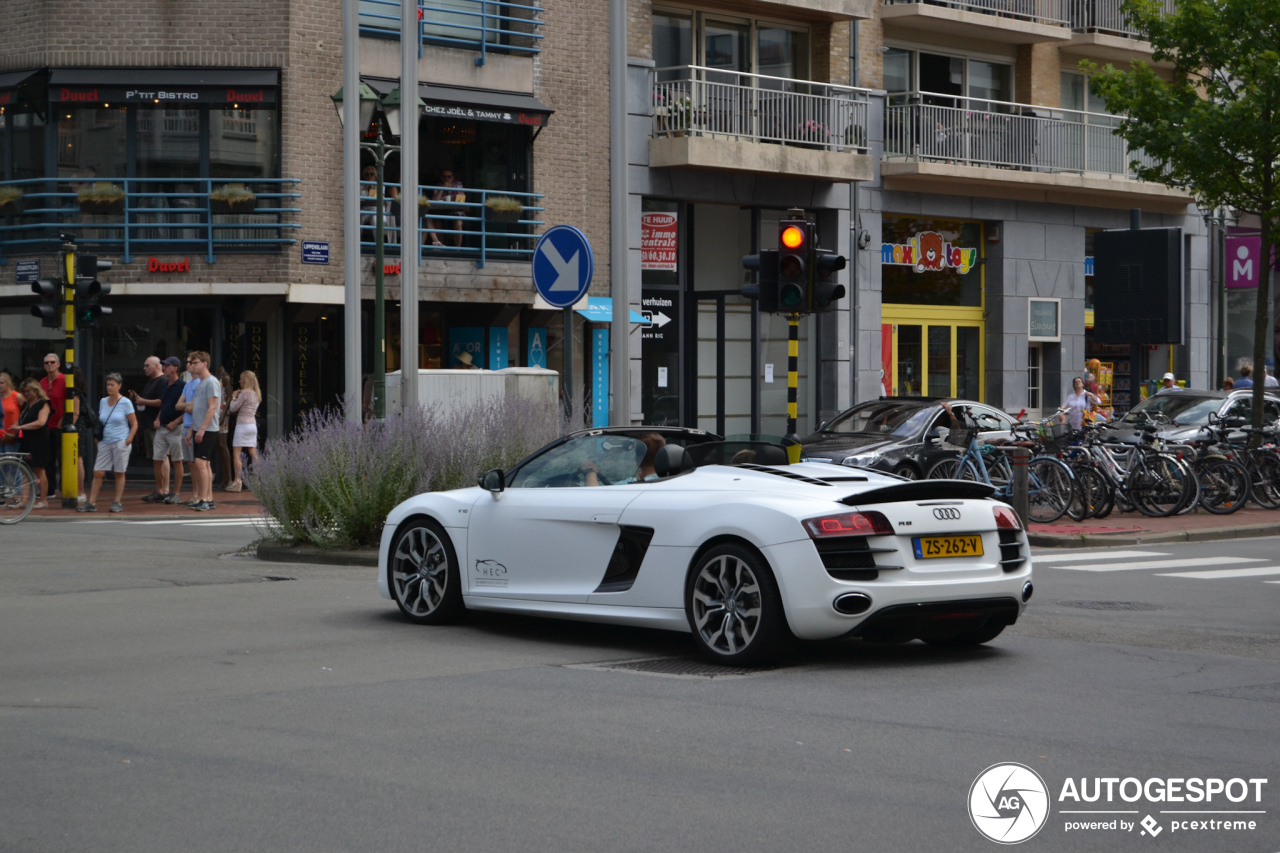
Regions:
<svg viewBox="0 0 1280 853"><path fill-rule="evenodd" d="M227 205L218 190L242 183L250 201ZM225 178L29 178L4 181L0 188L0 264L13 255L56 251L59 234L72 233L81 247L118 254L128 264L134 252L204 251L215 263L219 251L275 252L296 243L293 206L297 178L230 181ZM123 190L118 200L91 201L90 187ZM5 201L8 196L22 195Z"/></svg>

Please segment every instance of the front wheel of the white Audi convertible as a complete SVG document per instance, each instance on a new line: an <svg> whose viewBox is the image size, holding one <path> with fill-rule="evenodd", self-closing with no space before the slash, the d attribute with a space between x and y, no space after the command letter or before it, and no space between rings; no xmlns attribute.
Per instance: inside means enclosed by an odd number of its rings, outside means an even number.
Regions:
<svg viewBox="0 0 1280 853"><path fill-rule="evenodd" d="M458 556L449 534L431 519L406 524L387 564L392 598L411 621L443 625L462 613Z"/></svg>

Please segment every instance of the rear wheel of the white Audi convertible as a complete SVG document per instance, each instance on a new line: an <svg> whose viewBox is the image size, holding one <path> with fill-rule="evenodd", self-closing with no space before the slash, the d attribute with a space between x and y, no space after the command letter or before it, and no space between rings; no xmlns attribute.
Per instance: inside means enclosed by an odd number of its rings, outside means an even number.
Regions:
<svg viewBox="0 0 1280 853"><path fill-rule="evenodd" d="M703 555L685 583L685 612L699 651L723 666L771 660L790 637L773 573L740 544Z"/></svg>

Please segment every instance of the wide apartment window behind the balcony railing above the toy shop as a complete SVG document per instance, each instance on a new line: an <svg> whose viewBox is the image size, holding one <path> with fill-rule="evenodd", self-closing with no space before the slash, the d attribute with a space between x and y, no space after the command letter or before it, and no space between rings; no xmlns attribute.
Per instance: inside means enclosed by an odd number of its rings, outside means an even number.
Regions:
<svg viewBox="0 0 1280 853"><path fill-rule="evenodd" d="M884 88L891 96L927 92L927 102L954 105L950 97L1009 102L1014 96L1014 67L1009 63L890 47L884 54ZM901 99L899 99L901 100ZM982 105L972 105L983 109Z"/></svg>

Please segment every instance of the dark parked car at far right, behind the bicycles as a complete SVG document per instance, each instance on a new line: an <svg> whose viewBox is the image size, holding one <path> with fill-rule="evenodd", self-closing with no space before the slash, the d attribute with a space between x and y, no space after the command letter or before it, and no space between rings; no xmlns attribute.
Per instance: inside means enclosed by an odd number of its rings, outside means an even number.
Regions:
<svg viewBox="0 0 1280 853"><path fill-rule="evenodd" d="M1253 420L1253 389L1240 391L1188 391L1166 389L1147 397L1124 418L1110 424L1103 435L1107 441L1137 444L1140 428L1151 415L1158 424L1157 435L1171 443L1203 438L1201 429L1208 425L1210 415ZM1268 389L1263 401L1262 423L1280 418L1280 394Z"/></svg>

